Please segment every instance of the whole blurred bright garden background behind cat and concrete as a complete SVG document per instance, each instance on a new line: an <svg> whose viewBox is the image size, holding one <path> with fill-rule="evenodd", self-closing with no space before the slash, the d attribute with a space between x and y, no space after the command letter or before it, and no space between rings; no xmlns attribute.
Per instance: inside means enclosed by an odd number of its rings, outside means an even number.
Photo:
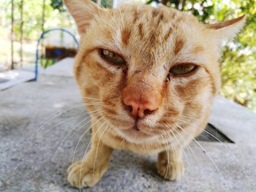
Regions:
<svg viewBox="0 0 256 192"><path fill-rule="evenodd" d="M220 94L256 112L255 0L135 1L154 7L164 4L189 12L203 23L214 23L246 14L246 27L235 41L227 42L223 47ZM112 8L132 1L96 2L102 7ZM63 30L48 31L53 28L67 30L71 35ZM44 31L49 33L41 36ZM0 0L0 72L34 67L37 47L39 65L43 68L62 58L73 57L77 51L74 39L79 39L78 32L62 0Z"/></svg>

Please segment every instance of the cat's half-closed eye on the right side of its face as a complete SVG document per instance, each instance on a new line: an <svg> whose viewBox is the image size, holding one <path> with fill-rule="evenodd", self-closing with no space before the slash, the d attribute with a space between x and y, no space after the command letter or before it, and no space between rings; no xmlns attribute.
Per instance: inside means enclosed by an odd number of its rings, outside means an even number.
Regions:
<svg viewBox="0 0 256 192"><path fill-rule="evenodd" d="M195 72L195 69L197 69L195 64L178 64L170 69L170 73L176 76L185 76Z"/></svg>

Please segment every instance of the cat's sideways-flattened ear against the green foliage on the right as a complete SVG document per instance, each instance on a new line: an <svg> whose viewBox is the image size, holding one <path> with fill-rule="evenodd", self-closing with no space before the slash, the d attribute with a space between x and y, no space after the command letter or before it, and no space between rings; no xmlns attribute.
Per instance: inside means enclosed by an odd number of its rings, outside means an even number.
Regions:
<svg viewBox="0 0 256 192"><path fill-rule="evenodd" d="M242 15L239 18L233 20L226 20L221 23L207 24L206 27L211 29L214 36L218 39L233 39L238 31L244 26L246 21L246 16Z"/></svg>

